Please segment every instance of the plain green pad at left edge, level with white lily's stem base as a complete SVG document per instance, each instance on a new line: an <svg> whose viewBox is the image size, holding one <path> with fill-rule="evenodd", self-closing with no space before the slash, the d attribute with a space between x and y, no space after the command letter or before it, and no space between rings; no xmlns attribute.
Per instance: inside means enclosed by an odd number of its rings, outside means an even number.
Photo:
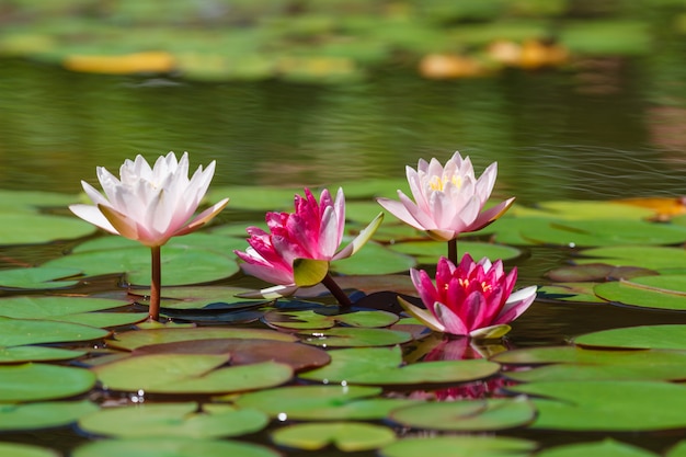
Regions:
<svg viewBox="0 0 686 457"><path fill-rule="evenodd" d="M0 316L0 347L23 344L100 340L107 330L50 320L11 319Z"/></svg>

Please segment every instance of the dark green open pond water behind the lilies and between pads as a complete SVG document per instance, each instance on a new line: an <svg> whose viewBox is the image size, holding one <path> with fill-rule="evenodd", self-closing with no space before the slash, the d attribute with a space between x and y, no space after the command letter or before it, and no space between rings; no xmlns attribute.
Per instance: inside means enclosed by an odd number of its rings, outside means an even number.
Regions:
<svg viewBox="0 0 686 457"><path fill-rule="evenodd" d="M564 70L513 70L493 78L428 81L387 68L341 85L92 76L2 60L0 187L75 194L81 180L94 183L98 165L114 171L125 158L169 150L188 151L193 168L216 160L213 187L251 185L255 193L262 186L334 187L402 178L404 167L419 158L444 161L459 150L479 172L498 161L495 194L514 195L526 206L677 197L686 194L686 79L678 65L686 46L670 46L660 56L588 58ZM253 214L229 204L221 220L232 217L240 221ZM31 264L73 244L0 252ZM575 250L539 245L524 252L508 263L519 269L521 286L546 284L544 274L567 264ZM116 284L91 288L116 290ZM541 301L513 324L507 344L564 344L603 329L676 322L686 323L686 316ZM512 435L545 444L588 438L535 431ZM682 437L619 436L655 450ZM0 436L5 438L64 452L85 441L70 429Z"/></svg>

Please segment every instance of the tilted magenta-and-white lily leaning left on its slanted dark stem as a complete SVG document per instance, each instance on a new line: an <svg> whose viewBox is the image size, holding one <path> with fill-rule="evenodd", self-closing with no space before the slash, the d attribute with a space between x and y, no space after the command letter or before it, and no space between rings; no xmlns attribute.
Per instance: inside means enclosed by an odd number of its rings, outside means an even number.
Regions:
<svg viewBox="0 0 686 457"><path fill-rule="evenodd" d="M244 273L259 277L274 287L260 292L263 297L293 294L298 287L323 283L342 305L347 297L329 275L329 262L345 259L369 240L381 224L382 213L344 249L339 251L345 229L345 197L339 188L335 199L328 190L317 198L309 188L305 196L295 196L295 213L266 214L268 232L248 227L250 247L235 251L244 261Z"/></svg>

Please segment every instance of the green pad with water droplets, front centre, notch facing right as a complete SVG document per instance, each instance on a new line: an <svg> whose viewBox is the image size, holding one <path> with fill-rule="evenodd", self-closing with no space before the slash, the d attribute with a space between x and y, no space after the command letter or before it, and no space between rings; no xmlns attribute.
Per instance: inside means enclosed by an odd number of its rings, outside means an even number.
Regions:
<svg viewBox="0 0 686 457"><path fill-rule="evenodd" d="M235 400L241 408L256 408L272 418L296 421L381 420L415 400L373 398L371 386L288 386L244 393Z"/></svg>

